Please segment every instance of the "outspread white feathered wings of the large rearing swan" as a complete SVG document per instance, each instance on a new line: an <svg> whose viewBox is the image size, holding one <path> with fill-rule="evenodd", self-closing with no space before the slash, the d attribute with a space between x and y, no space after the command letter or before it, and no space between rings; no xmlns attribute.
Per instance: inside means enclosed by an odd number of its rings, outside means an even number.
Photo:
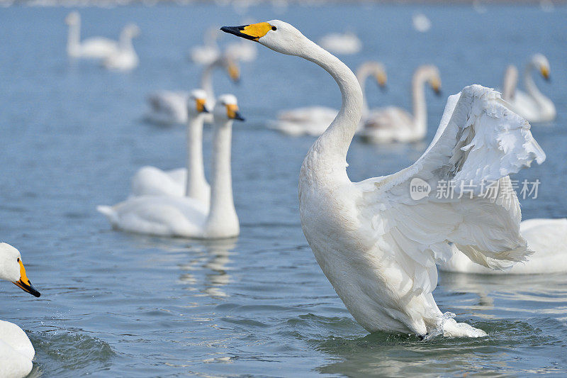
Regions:
<svg viewBox="0 0 567 378"><path fill-rule="evenodd" d="M529 123L493 89L471 85L449 97L431 145L414 165L357 183L359 216L380 250L405 270L414 292L437 285L435 262L455 243L471 260L505 269L526 260L520 203L509 174L545 154Z"/></svg>

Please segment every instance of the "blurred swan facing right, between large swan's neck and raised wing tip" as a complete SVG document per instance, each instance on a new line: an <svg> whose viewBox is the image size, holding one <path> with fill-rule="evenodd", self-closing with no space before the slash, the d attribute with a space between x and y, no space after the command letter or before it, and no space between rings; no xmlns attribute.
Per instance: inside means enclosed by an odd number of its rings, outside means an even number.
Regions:
<svg viewBox="0 0 567 378"><path fill-rule="evenodd" d="M395 106L372 111L361 130L361 138L371 143L409 143L425 138L427 133L427 106L425 83L429 83L439 96L441 79L439 70L432 65L417 67L412 78L411 95L413 114Z"/></svg>

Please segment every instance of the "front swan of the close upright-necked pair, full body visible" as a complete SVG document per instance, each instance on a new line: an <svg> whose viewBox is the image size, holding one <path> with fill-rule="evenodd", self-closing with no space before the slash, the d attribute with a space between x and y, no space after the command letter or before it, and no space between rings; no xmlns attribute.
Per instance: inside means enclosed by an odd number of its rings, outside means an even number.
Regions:
<svg viewBox="0 0 567 378"><path fill-rule="evenodd" d="M210 205L189 197L140 196L115 206L99 206L113 228L181 238L232 238L240 233L230 177L232 121L244 121L236 97L219 96L213 109L213 167Z"/></svg>

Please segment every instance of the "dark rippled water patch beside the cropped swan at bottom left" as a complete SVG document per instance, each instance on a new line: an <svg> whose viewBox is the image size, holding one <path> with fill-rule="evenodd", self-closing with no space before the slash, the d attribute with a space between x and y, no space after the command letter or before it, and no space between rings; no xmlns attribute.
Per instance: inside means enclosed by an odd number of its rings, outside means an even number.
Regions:
<svg viewBox="0 0 567 378"><path fill-rule="evenodd" d="M63 331L65 332L65 331ZM81 333L28 333L35 348L35 360L30 377L50 376L63 372L91 373L110 367L114 352L99 338Z"/></svg>

